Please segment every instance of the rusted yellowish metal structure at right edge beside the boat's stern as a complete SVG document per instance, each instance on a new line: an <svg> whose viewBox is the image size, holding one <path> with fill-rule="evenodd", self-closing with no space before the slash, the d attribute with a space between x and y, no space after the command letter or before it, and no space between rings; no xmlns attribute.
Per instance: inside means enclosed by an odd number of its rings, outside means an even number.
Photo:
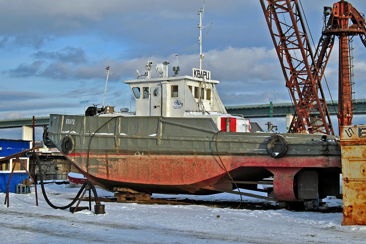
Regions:
<svg viewBox="0 0 366 244"><path fill-rule="evenodd" d="M343 174L342 225L366 225L366 125L340 128Z"/></svg>

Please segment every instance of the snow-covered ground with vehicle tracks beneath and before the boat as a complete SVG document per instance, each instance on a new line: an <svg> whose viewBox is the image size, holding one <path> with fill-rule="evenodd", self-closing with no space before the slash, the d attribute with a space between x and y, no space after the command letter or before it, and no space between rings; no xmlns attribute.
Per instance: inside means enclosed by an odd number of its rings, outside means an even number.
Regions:
<svg viewBox="0 0 366 244"><path fill-rule="evenodd" d="M71 202L79 188L48 184L53 204ZM97 189L100 196L113 193ZM172 197L153 195L153 197ZM177 199L238 200L231 194L178 195ZM5 194L0 193L4 203ZM247 198L244 201L263 202ZM144 205L103 202L106 214L52 209L38 187L33 194L10 194L0 206L0 243L364 243L366 226L341 226L342 213L220 209L199 205ZM328 199L329 206L341 200ZM88 206L82 202L80 206ZM92 208L94 203L92 205ZM220 215L220 218L216 216Z"/></svg>

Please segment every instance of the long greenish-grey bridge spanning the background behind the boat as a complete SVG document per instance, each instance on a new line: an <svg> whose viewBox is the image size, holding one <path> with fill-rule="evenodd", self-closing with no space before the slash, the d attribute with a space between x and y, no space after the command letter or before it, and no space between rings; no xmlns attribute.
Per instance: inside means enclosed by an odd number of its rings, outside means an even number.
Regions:
<svg viewBox="0 0 366 244"><path fill-rule="evenodd" d="M326 101L330 115L337 115L338 113L338 101ZM352 102L354 115L366 114L366 99L356 99ZM239 106L227 106L225 107L228 113L240 114L244 118L266 118L270 115L270 104L255 104L255 105L239 105ZM295 112L295 105L291 102L273 104L272 117L286 117L286 115L293 115ZM316 114L315 114L316 115ZM36 117L36 126L46 126L49 123L49 116ZM0 129L5 128L17 128L17 127L31 127L33 126L33 118L21 118L21 119L6 119L0 120Z"/></svg>

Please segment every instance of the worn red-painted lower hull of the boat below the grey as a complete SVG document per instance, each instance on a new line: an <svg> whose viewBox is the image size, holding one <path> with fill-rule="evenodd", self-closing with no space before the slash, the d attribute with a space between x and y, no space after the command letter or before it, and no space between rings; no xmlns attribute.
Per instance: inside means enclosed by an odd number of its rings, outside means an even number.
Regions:
<svg viewBox="0 0 366 244"><path fill-rule="evenodd" d="M146 193L209 195L233 188L219 157L213 155L90 154L88 158L87 154L72 153L66 157L88 179L111 191L128 187ZM338 156L274 159L225 155L221 159L235 181L260 181L273 176L273 192L279 201L296 201L294 177L303 168L317 170L319 177L341 169Z"/></svg>

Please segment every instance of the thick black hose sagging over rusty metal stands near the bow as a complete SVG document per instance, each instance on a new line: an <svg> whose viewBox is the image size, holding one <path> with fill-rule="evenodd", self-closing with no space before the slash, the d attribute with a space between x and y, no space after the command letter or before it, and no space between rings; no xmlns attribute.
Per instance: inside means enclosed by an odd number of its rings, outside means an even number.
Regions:
<svg viewBox="0 0 366 244"><path fill-rule="evenodd" d="M33 155L34 157L36 157L36 160L37 160L37 165L38 165L38 171L40 173L40 182L41 182L41 188L42 188L42 194L46 200L46 202L48 203L49 206L51 206L52 208L54 209L68 209L69 207L71 207L72 205L74 205L74 203L78 200L79 196L81 195L81 193L83 192L83 189L85 189L86 185L89 185L90 189L93 191L94 193L94 199L96 200L96 204L99 205L100 202L99 202L99 199L98 199L98 195L97 195L97 191L94 187L94 184L91 183L89 180L86 181L82 187L80 188L78 194L76 194L74 200L72 200L72 202L66 206L56 206L56 205L53 205L50 200L47 198L47 195L46 195L46 191L45 191L45 188L44 188L44 183L43 183L43 176L42 176L42 168L41 168L41 161L40 161L40 158L38 157L38 154L35 153L35 152L29 152L27 153L27 155ZM33 162L34 163L34 162Z"/></svg>

